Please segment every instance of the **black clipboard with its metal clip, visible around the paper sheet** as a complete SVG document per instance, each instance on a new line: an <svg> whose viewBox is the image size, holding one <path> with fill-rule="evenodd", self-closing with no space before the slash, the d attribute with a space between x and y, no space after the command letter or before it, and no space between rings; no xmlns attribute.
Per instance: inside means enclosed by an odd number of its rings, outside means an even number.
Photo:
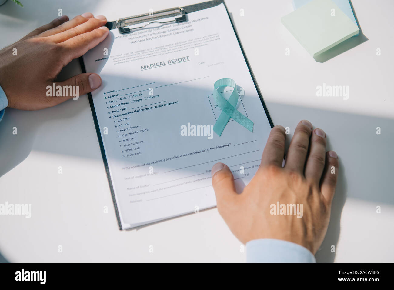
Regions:
<svg viewBox="0 0 394 290"><path fill-rule="evenodd" d="M160 10L160 11L150 11L149 13L145 13L145 14L134 15L134 16L125 17L125 18L121 18L118 20L114 20L114 21L109 21L106 23L105 26L108 27L109 30L117 29L117 30L119 30L119 33L121 33L121 34L128 34L128 33L133 33L134 31L148 29L149 27L147 27L147 26L149 26L149 24L151 24L151 23L159 23L162 25L166 25L166 24L171 24L171 23L186 22L188 20L188 13L191 13L194 11L200 11L200 10L207 9L210 7L215 7L215 6L218 6L222 3L225 6L225 9L227 11L227 15L229 16L230 23L231 23L232 28L234 30L234 34L235 34L238 44L241 48L243 58L245 60L245 63L247 65L247 68L249 70L251 78L252 78L253 83L255 85L255 88L256 88L256 91L257 91L258 96L260 98L261 104L264 108L264 112L266 113L266 117L268 119L269 125L271 126L271 128L273 128L274 125L273 125L272 119L269 115L267 106L266 106L264 99L262 97L262 94L260 92L260 88L258 87L255 76L254 76L252 69L249 65L249 61L247 60L247 57L246 57L245 52L243 50L242 44L241 44L238 34L236 32L234 23L232 22L232 19L230 17L230 13L227 9L227 6L226 6L224 0L212 0L212 1L202 2L199 4L184 6L184 7L174 7L174 8ZM165 20L162 20L162 19L165 19ZM80 60L82 72L85 73L86 69L85 69L84 60L83 60L82 56L79 58L79 60ZM97 114L96 114L95 106L93 103L93 97L92 97L91 93L88 93L87 95L88 95L88 99L89 99L90 108L92 111L93 121L94 121L94 124L96 127L97 138L99 139L100 151L101 151L102 159L104 162L104 167L105 167L107 178L108 178L108 184L110 186L112 201L113 201L113 205L115 208L115 213L116 213L116 217L117 217L117 221L118 221L118 225L119 225L119 230L123 230L122 223L121 223L121 217L119 215L118 205L116 202L115 192L114 192L112 179L111 179L111 175L110 175L110 170L109 170L109 166L108 166L108 160L107 160L107 156L106 156L105 149L104 149L104 143L102 141L103 140L102 139L102 132L99 127L99 121L97 119ZM149 223L147 223L145 225L149 225Z"/></svg>

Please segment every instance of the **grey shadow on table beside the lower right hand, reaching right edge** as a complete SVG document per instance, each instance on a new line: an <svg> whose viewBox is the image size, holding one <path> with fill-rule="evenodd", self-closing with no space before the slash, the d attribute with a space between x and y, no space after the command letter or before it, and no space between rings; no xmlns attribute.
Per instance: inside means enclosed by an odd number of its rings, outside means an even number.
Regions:
<svg viewBox="0 0 394 290"><path fill-rule="evenodd" d="M267 107L274 124L290 127L291 135L302 119L311 121L314 128L322 128L327 134L327 151L335 150L338 153L338 183L331 219L323 244L316 253L317 262L334 262L335 252L332 250L333 246L336 248L340 236L340 218L347 197L371 203L394 204L392 188L388 182L393 173L390 160L394 120L273 102L268 102ZM384 132L381 135L376 134L378 126ZM290 137L286 139L286 149ZM351 184L350 187L348 183ZM156 223L161 222L163 221Z"/></svg>

